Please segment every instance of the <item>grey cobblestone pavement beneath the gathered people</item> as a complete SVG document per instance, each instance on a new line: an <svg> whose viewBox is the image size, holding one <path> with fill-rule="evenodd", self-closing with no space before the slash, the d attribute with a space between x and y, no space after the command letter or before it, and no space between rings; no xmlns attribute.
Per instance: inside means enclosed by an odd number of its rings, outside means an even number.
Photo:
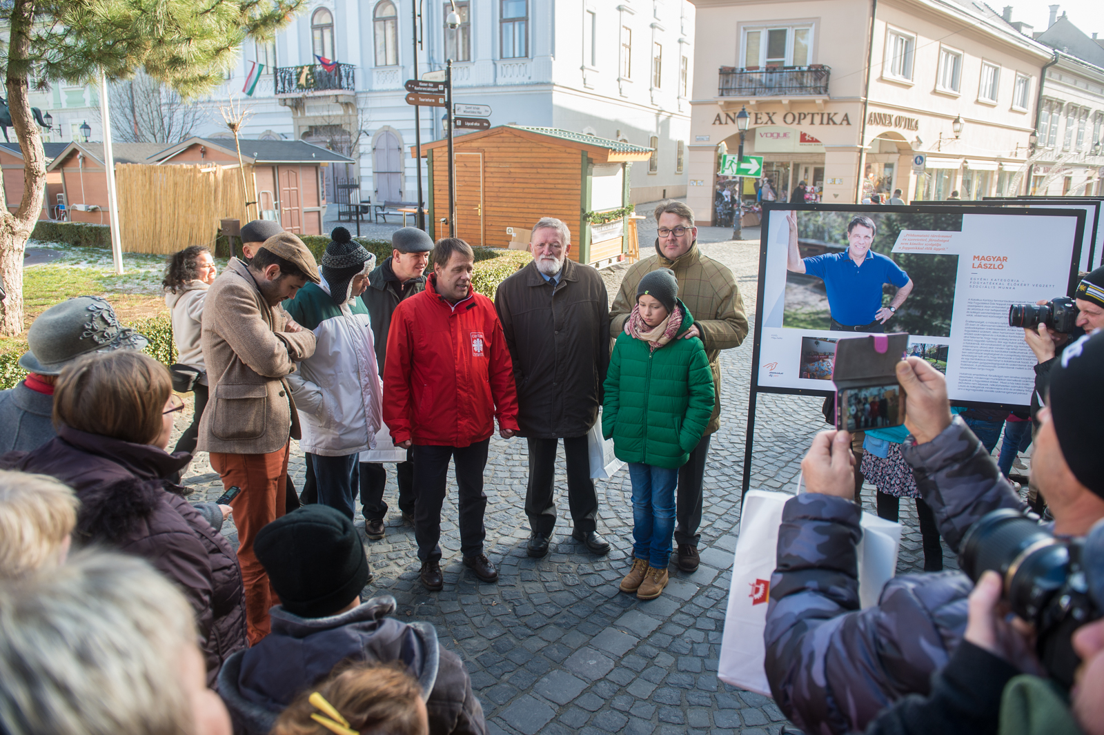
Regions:
<svg viewBox="0 0 1104 735"><path fill-rule="evenodd" d="M758 243L707 244L702 251L731 267L754 315ZM611 274L614 280L619 273ZM611 285L613 292L614 285ZM776 735L785 718L773 701L716 679L721 630L740 520L744 426L751 339L721 354L721 430L713 435L701 524L701 566L693 574L671 567L671 582L651 601L618 592L631 551L630 483L626 470L597 481L598 530L613 544L594 557L571 540L570 518L558 524L551 553L526 555L529 525L523 512L526 443L491 440L486 471L487 555L498 565L498 584L481 584L460 564L455 477L442 523L445 588L427 593L417 582L414 532L392 505L388 535L368 541L375 579L364 590L393 595L397 616L433 622L442 643L467 663L491 733L745 733ZM825 424L820 398L761 394L752 487L790 489L813 435ZM181 416L180 426L190 420ZM301 487L302 455L294 448L291 472ZM386 498L395 499L393 472ZM561 449L558 507L566 510ZM193 461L187 482L193 500L222 491L205 455ZM867 507L873 510L873 489ZM899 571L922 568L920 532L912 503L902 503L905 533ZM362 520L358 515L358 525ZM232 539L232 524L224 532ZM235 540L236 541L236 540ZM948 566L954 560L946 557Z"/></svg>

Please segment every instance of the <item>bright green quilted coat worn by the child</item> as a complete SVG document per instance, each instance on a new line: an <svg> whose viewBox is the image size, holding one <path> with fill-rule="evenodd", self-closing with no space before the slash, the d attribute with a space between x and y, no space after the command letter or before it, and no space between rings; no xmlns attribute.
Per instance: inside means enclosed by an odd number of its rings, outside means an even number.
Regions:
<svg viewBox="0 0 1104 735"><path fill-rule="evenodd" d="M681 300L682 326L693 315ZM713 374L701 340L676 337L652 350L625 332L617 335L606 374L602 434L613 437L623 462L673 469L687 464L713 411Z"/></svg>

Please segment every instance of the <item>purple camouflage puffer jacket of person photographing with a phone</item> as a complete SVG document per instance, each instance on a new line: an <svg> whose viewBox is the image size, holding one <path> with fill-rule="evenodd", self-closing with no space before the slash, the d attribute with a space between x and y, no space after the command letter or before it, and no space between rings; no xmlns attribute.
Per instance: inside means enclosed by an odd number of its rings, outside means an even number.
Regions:
<svg viewBox="0 0 1104 735"><path fill-rule="evenodd" d="M909 437L902 454L956 553L987 512L1026 510L958 417L927 444ZM778 707L809 735L866 729L895 700L927 694L966 629L973 583L960 572L896 577L878 605L859 609L860 513L850 500L816 493L783 511L765 665Z"/></svg>

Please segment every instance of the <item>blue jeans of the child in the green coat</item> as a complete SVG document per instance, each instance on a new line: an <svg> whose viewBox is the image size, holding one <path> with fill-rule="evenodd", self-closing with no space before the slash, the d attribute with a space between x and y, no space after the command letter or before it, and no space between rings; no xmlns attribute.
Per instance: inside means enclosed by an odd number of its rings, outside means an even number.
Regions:
<svg viewBox="0 0 1104 735"><path fill-rule="evenodd" d="M628 464L633 480L633 556L666 569L675 534L675 488L679 470Z"/></svg>

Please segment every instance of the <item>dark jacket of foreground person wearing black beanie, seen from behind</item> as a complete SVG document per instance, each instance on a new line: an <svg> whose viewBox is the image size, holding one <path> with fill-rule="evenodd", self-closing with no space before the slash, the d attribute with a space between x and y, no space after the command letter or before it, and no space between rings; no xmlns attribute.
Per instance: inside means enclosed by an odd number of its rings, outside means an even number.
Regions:
<svg viewBox="0 0 1104 735"><path fill-rule="evenodd" d="M428 692L431 735L486 735L482 706L471 692L464 663L437 645L428 622L405 624L390 595L348 612L300 618L272 609L272 632L236 653L219 677L219 693L234 723L247 735L268 733L279 713L343 661L402 661Z"/></svg>

